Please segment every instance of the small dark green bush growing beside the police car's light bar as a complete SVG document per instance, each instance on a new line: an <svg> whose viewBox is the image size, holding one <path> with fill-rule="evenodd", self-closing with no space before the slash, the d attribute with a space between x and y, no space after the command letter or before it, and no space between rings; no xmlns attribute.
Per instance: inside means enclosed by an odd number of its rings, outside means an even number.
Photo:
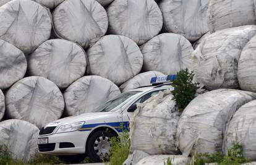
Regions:
<svg viewBox="0 0 256 165"><path fill-rule="evenodd" d="M179 111L183 111L195 97L198 83L192 81L193 77L194 72L190 72L189 69L181 70L177 73L176 80L172 83L174 87L172 92L173 99L176 101Z"/></svg>

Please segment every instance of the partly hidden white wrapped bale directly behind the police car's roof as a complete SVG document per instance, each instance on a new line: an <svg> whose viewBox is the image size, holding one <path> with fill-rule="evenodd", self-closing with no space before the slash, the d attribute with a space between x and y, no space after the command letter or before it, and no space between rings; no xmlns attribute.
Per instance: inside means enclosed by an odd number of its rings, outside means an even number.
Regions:
<svg viewBox="0 0 256 165"><path fill-rule="evenodd" d="M122 92L133 90L135 88L151 85L150 80L152 77L163 76L161 72L149 71L143 72L139 75L136 75L134 78L130 78L127 82L121 85L120 90Z"/></svg>

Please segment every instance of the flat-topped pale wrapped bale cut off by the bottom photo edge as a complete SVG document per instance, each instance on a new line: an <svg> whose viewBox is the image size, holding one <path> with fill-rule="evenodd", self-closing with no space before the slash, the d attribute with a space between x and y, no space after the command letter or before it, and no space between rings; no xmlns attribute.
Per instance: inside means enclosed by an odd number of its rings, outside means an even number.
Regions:
<svg viewBox="0 0 256 165"><path fill-rule="evenodd" d="M147 156L141 159L136 165L165 165L167 164L168 158L173 165L187 165L190 163L190 158L187 156L158 154Z"/></svg>

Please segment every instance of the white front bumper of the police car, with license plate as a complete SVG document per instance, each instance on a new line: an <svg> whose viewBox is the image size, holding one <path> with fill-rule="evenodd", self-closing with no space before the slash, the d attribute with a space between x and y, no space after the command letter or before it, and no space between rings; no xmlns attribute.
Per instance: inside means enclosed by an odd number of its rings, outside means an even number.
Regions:
<svg viewBox="0 0 256 165"><path fill-rule="evenodd" d="M38 145L39 152L54 155L83 154L85 153L88 135L88 132L78 130L74 132L40 135L38 138L48 138L48 144ZM73 144L72 146L63 145L71 143Z"/></svg>

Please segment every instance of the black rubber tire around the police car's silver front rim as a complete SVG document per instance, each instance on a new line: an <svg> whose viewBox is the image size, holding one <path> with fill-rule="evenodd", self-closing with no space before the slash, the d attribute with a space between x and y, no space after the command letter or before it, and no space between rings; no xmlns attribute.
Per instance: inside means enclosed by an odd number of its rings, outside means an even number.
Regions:
<svg viewBox="0 0 256 165"><path fill-rule="evenodd" d="M95 151L95 149L94 149L95 146L96 146L95 142L96 142L96 140L98 141L100 137L103 137L103 138L105 137L105 140L106 140L106 137L107 137L108 138L107 141L109 142L109 138L116 137L116 136L114 135L114 133L112 133L108 129L106 129L106 130L98 130L96 132L93 132L92 135L90 135L90 137L87 140L86 154L95 163L100 163L102 161L102 159L103 159L103 157L102 156L100 157L97 154L98 152Z"/></svg>

